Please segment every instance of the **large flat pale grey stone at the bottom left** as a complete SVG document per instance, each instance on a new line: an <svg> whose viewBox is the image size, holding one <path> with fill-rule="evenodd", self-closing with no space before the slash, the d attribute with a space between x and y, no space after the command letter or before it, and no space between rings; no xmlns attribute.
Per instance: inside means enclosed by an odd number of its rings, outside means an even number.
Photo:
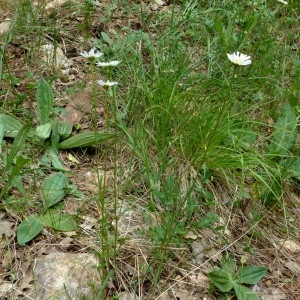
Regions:
<svg viewBox="0 0 300 300"><path fill-rule="evenodd" d="M37 258L33 268L34 299L93 299L89 283L100 285L97 264L97 258L88 253L51 253Z"/></svg>

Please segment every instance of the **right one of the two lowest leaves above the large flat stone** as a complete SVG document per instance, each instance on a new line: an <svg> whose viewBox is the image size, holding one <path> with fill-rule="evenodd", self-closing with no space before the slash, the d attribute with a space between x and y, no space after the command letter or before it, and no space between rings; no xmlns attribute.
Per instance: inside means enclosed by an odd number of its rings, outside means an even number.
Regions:
<svg viewBox="0 0 300 300"><path fill-rule="evenodd" d="M77 229L77 223L73 216L61 211L49 210L43 216L43 221L47 226L59 231L74 231Z"/></svg>

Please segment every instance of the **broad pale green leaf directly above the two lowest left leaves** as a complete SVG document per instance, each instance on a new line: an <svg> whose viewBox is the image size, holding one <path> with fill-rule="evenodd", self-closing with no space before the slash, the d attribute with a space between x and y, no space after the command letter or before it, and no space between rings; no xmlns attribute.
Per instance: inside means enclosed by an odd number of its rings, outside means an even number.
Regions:
<svg viewBox="0 0 300 300"><path fill-rule="evenodd" d="M67 182L67 175L63 172L52 174L45 179L41 186L41 198L45 209L53 206L65 197L66 192L64 189Z"/></svg>

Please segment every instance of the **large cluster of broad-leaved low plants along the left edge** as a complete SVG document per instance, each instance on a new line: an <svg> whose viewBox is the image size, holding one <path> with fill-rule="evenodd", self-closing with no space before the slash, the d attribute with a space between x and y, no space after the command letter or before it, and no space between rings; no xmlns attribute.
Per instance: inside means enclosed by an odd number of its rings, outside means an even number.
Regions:
<svg viewBox="0 0 300 300"><path fill-rule="evenodd" d="M61 207L54 207L66 195L68 179L65 169L58 157L60 149L97 146L102 141L113 137L109 133L97 131L83 132L69 137L72 125L59 122L54 111L54 100L50 85L43 78L39 80L36 92L38 126L33 128L30 124L23 125L17 118L9 114L0 114L0 143L4 138L14 139L12 147L7 144L6 151L1 151L4 162L1 179L3 188L1 197L6 197L11 187L24 192L22 185L22 169L32 159L26 157L24 149L28 144L40 146L45 151L39 165L58 172L48 176L40 188L42 209L40 213L25 217L17 228L17 241L26 244L36 237L46 225L59 231L71 231L77 227L73 216L62 213ZM69 138L68 138L69 137ZM1 149L2 150L2 149Z"/></svg>

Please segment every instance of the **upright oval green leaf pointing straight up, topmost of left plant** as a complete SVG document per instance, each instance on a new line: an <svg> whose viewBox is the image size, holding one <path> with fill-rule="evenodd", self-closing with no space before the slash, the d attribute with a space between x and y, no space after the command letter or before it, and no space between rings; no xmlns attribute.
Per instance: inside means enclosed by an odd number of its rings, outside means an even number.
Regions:
<svg viewBox="0 0 300 300"><path fill-rule="evenodd" d="M53 94L50 85L43 78L37 85L36 100L40 125L46 124L53 108Z"/></svg>

